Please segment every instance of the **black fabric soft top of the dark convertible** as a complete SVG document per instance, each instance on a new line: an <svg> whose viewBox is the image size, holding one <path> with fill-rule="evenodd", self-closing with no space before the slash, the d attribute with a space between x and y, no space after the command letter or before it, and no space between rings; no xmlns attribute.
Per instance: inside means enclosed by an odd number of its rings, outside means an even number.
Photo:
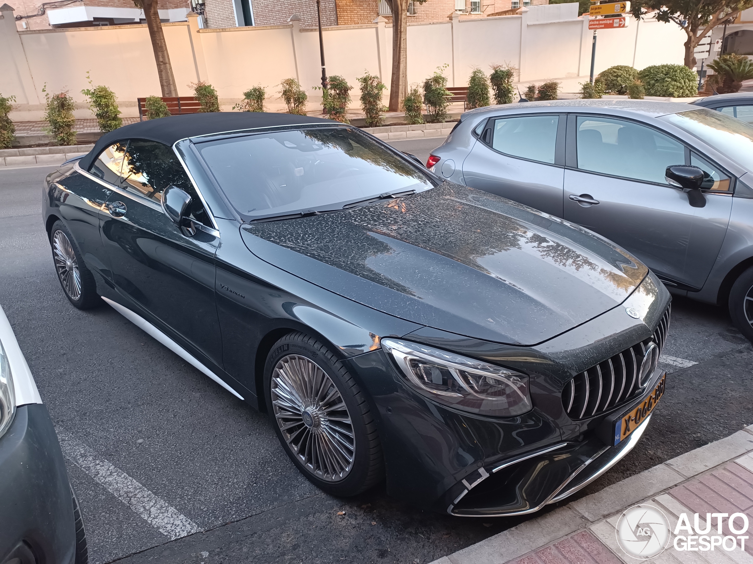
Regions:
<svg viewBox="0 0 753 564"><path fill-rule="evenodd" d="M268 114L263 112L215 112L212 114L183 114L161 117L123 126L105 133L89 153L81 157L79 166L88 170L96 156L117 141L125 139L148 139L172 146L175 141L197 135L255 129L258 127L293 126L308 123L337 123L321 117L297 116L294 114Z"/></svg>

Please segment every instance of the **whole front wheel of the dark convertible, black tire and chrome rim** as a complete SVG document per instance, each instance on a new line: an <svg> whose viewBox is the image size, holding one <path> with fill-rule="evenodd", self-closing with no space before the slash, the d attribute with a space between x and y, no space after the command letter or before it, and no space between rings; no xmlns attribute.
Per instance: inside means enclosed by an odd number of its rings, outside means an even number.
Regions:
<svg viewBox="0 0 753 564"><path fill-rule="evenodd" d="M301 332L277 341L264 395L282 448L320 490L355 496L382 480L382 446L364 394L325 344Z"/></svg>

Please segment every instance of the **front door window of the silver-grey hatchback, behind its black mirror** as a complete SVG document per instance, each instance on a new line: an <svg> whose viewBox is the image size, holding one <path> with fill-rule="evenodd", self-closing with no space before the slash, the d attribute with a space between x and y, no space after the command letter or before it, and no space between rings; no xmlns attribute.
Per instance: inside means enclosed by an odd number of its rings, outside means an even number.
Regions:
<svg viewBox="0 0 753 564"><path fill-rule="evenodd" d="M685 164L684 146L650 127L578 116L578 168L666 184L671 165Z"/></svg>

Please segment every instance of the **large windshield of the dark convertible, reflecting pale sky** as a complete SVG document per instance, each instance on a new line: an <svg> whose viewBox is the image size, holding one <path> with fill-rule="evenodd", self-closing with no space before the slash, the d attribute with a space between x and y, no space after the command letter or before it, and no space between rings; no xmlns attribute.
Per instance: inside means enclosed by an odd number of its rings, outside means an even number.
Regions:
<svg viewBox="0 0 753 564"><path fill-rule="evenodd" d="M433 186L416 165L346 127L264 132L197 147L245 220L341 210Z"/></svg>

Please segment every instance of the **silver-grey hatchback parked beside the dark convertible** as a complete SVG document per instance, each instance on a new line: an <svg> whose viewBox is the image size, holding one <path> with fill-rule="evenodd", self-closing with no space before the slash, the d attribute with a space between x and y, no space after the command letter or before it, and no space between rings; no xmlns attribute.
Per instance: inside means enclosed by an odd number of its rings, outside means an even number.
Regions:
<svg viewBox="0 0 753 564"><path fill-rule="evenodd" d="M426 163L578 223L675 294L727 305L753 341L753 126L695 105L558 100L478 108Z"/></svg>

